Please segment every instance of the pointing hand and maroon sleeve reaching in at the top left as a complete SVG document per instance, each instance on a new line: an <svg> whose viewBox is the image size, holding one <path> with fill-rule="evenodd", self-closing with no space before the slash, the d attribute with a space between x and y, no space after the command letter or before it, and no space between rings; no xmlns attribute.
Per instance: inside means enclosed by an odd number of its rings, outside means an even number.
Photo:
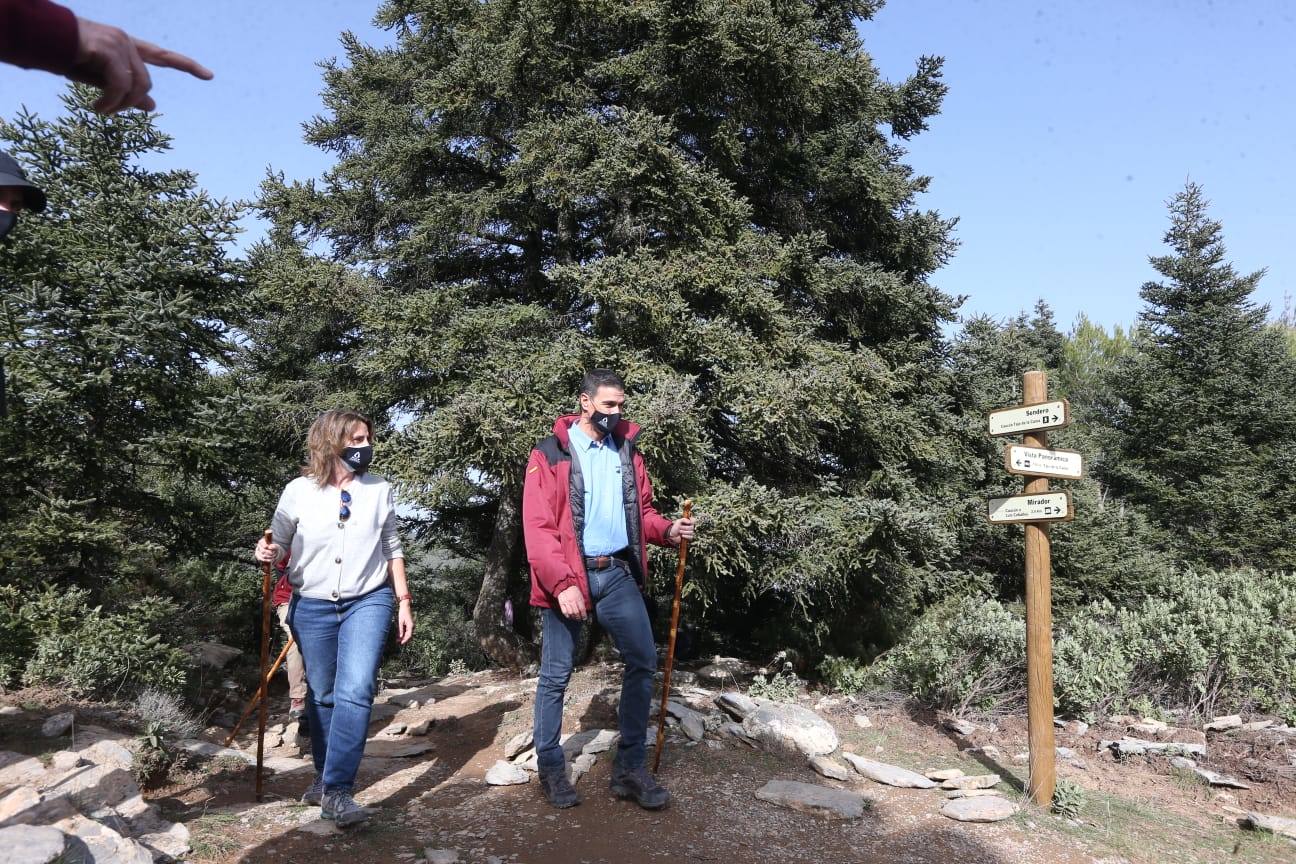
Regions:
<svg viewBox="0 0 1296 864"><path fill-rule="evenodd" d="M49 0L0 0L0 61L93 84L104 91L95 102L101 114L157 108L149 96L153 79L145 63L211 78L206 67L184 54L78 18Z"/></svg>

